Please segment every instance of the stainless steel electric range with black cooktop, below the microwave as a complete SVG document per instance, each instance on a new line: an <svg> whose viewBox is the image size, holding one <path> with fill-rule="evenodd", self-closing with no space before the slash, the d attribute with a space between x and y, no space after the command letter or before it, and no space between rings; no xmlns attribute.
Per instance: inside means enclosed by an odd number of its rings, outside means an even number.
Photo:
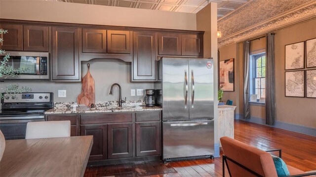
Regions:
<svg viewBox="0 0 316 177"><path fill-rule="evenodd" d="M2 93L0 130L6 140L24 139L26 124L44 121L44 112L54 107L53 93Z"/></svg>

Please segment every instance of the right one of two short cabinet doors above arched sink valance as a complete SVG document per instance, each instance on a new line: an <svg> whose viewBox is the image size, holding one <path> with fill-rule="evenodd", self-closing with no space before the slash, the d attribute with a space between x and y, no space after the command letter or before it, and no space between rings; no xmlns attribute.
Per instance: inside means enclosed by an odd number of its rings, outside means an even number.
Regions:
<svg viewBox="0 0 316 177"><path fill-rule="evenodd" d="M130 54L130 31L108 30L108 53Z"/></svg>

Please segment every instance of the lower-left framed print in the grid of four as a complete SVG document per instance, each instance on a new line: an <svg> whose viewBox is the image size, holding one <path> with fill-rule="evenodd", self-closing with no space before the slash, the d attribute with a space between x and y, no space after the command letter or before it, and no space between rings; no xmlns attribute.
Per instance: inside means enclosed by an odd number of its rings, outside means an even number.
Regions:
<svg viewBox="0 0 316 177"><path fill-rule="evenodd" d="M285 96L305 97L305 71L285 72Z"/></svg>

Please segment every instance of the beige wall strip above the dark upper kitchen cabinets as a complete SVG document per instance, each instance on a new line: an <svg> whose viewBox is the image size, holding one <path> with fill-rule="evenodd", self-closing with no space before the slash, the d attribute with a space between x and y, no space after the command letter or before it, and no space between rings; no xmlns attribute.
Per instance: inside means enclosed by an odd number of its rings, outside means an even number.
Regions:
<svg viewBox="0 0 316 177"><path fill-rule="evenodd" d="M196 30L196 14L45 0L0 0L0 18Z"/></svg>

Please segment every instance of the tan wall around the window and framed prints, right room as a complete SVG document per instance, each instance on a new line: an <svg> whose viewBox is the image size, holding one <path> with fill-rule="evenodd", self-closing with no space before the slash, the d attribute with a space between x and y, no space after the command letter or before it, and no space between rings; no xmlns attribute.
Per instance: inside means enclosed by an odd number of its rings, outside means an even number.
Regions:
<svg viewBox="0 0 316 177"><path fill-rule="evenodd" d="M278 29L275 34L275 61L276 61L276 120L307 127L316 127L316 99L285 97L285 45L316 38L316 18ZM254 40L251 43L251 54L265 51L265 38ZM220 60L234 58L235 62L235 92L224 92L224 100L234 99L236 96L237 114L243 115L243 73L242 73L242 42L220 48ZM236 49L236 50L235 50ZM239 68L239 70L238 70ZM316 68L314 68L316 69ZM236 86L236 84L239 86ZM239 94L239 95L237 95ZM251 117L265 118L265 107L250 105Z"/></svg>

